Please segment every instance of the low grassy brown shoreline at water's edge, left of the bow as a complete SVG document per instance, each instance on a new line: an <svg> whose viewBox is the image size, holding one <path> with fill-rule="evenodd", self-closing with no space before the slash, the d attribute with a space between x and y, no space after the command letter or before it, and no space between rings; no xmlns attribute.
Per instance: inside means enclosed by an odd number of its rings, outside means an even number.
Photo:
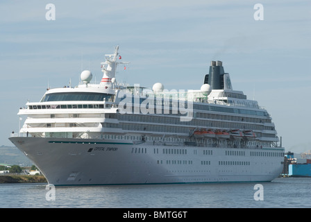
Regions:
<svg viewBox="0 0 311 222"><path fill-rule="evenodd" d="M1 175L0 184L6 183L32 183L32 182L47 182L47 179L42 175Z"/></svg>

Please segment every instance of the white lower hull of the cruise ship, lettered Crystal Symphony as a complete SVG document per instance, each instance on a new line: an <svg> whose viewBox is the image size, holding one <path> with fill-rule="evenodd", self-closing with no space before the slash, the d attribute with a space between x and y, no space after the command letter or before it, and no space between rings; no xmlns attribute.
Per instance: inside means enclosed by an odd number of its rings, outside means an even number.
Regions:
<svg viewBox="0 0 311 222"><path fill-rule="evenodd" d="M280 175L284 161L280 154L284 148L158 146L106 139L38 137L10 137L10 141L53 185L264 182ZM225 155L226 151L244 151L245 155ZM251 151L279 154L251 156ZM219 161L235 164L220 165Z"/></svg>

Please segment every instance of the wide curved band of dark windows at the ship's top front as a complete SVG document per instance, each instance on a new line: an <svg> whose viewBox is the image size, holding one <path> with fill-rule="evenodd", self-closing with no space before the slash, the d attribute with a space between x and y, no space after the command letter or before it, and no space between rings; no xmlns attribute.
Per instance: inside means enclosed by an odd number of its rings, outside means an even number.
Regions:
<svg viewBox="0 0 311 222"><path fill-rule="evenodd" d="M49 101L108 101L112 95L92 92L59 92L46 94L41 102Z"/></svg>

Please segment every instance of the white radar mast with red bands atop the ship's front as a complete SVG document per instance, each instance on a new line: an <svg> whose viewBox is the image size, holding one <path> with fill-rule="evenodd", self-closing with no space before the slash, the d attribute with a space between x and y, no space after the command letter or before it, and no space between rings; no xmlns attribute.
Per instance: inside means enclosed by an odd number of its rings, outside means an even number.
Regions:
<svg viewBox="0 0 311 222"><path fill-rule="evenodd" d="M118 51L119 51L119 46L116 46L115 53L110 54L110 55L105 55L106 62L101 62L101 71L103 72L103 78L101 78L100 85L102 87L111 87L112 82L115 82L115 73L116 73L117 65L130 63L130 62L117 62L117 60L121 60L121 56L119 56Z"/></svg>

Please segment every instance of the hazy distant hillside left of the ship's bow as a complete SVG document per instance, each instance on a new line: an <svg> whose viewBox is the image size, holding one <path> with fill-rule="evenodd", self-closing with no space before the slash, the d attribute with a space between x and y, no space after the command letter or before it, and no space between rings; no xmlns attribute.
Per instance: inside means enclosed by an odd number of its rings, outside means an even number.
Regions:
<svg viewBox="0 0 311 222"><path fill-rule="evenodd" d="M0 146L0 164L13 164L21 167L31 167L33 162L15 146Z"/></svg>

